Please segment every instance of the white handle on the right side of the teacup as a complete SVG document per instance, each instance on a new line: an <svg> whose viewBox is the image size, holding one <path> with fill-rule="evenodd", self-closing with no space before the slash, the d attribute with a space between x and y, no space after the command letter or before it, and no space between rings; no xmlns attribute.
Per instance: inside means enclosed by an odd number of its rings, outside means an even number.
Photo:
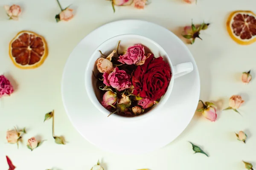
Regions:
<svg viewBox="0 0 256 170"><path fill-rule="evenodd" d="M193 71L194 67L192 62L183 62L173 66L173 78L176 79L178 77L184 76L191 71Z"/></svg>

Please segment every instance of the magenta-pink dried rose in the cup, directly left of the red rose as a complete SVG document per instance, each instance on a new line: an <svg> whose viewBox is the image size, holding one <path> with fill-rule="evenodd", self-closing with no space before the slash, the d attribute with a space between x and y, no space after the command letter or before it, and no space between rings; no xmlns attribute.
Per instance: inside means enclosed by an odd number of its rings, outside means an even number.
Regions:
<svg viewBox="0 0 256 170"><path fill-rule="evenodd" d="M103 74L103 83L108 86L116 88L118 91L125 90L131 87L131 76L127 74L124 70L119 70L115 68L111 74Z"/></svg>

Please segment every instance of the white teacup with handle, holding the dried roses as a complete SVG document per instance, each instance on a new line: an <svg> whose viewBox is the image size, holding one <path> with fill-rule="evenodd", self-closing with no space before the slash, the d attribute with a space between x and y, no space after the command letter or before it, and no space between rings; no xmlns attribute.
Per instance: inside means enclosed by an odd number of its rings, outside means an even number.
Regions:
<svg viewBox="0 0 256 170"><path fill-rule="evenodd" d="M160 108L166 103L169 96L171 95L174 79L193 71L193 65L191 62L183 62L177 65L172 65L172 62L168 54L160 45L158 45L156 42L150 40L147 37L143 37L136 34L123 34L118 35L116 37L112 37L103 42L101 45L99 45L99 47L91 55L85 70L85 88L91 102L96 108L99 109L99 111L104 113L106 117L110 114L110 112L107 109L105 109L100 103L102 101L102 99L100 98L100 89L96 87L97 79L93 77L93 71L95 75L99 73L96 66L96 60L100 57L99 50L102 51L103 54L110 54L113 50L116 50L119 40L121 41L119 46L120 52L125 51L131 45L142 44L143 46L150 49L151 53L154 54L154 57L163 57L164 61L168 62L171 67L172 78L169 83L169 87L166 91L166 94L162 96L160 102L157 105L154 105L150 111L134 117L124 117L112 114L108 117L108 119L116 118L120 120L138 120L151 116L154 113L159 113Z"/></svg>

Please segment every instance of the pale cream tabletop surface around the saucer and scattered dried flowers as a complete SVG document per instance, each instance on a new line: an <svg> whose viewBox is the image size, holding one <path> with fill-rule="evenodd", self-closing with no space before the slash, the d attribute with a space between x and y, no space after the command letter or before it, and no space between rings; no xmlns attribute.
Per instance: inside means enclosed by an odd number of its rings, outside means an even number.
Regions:
<svg viewBox="0 0 256 170"><path fill-rule="evenodd" d="M236 44L225 26L231 11L253 10L256 1L198 0L197 5L186 4L182 0L152 1L145 10L116 7L113 14L111 3L105 0L62 0L63 7L72 4L71 8L75 10L75 17L67 23L55 23L55 14L59 12L55 0L0 1L0 74L5 74L15 86L12 96L0 99L1 170L8 169L6 155L17 170L52 167L57 170L89 170L98 159L105 170L243 170L241 160L256 166L256 43L248 46ZM8 20L3 9L3 5L12 3L20 5L23 10L19 21ZM169 28L178 36L183 26L191 24L191 19L194 23L210 23L209 29L201 34L203 41L198 39L194 45L188 45L201 77L201 99L217 101L219 108L225 108L230 96L240 94L245 100L239 109L242 116L233 111L223 111L218 113L216 122L210 122L196 113L175 141L142 155L107 153L83 139L71 125L62 105L64 64L76 44L90 31L120 19L148 20ZM48 42L49 56L37 69L20 70L9 58L9 41L22 30L35 31ZM250 69L253 80L244 85L240 80L241 73ZM65 136L66 145L54 143L51 121L43 123L44 114L52 109L55 109L55 134ZM13 126L28 130L19 149L5 139L6 130ZM170 133L173 130L170 129ZM246 144L236 140L234 132L239 130L247 133ZM33 152L26 147L27 139L32 136L47 139ZM193 154L187 141L201 146L209 153L209 158L200 153Z"/></svg>

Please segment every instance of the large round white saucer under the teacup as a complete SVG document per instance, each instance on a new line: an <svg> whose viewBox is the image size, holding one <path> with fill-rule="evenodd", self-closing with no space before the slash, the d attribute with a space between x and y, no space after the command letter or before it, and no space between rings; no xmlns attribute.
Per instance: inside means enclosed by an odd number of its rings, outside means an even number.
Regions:
<svg viewBox="0 0 256 170"><path fill-rule="evenodd" d="M120 34L139 34L154 40L165 49L173 65L194 65L194 71L175 79L172 94L160 113L135 122L118 121L100 113L84 86L84 71L93 51ZM108 23L88 34L70 54L62 79L62 99L73 125L89 142L114 153L145 153L172 142L192 119L199 94L198 68L186 45L166 28L141 20Z"/></svg>

